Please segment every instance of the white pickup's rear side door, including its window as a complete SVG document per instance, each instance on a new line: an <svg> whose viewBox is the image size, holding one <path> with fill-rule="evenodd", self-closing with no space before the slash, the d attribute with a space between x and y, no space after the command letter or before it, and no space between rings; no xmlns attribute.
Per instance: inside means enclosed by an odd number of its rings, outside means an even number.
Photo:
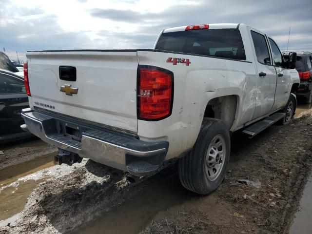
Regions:
<svg viewBox="0 0 312 234"><path fill-rule="evenodd" d="M277 77L265 34L254 29L251 29L249 33L253 41L252 45L258 73L257 94L253 117L253 119L256 119L271 112L274 104Z"/></svg>

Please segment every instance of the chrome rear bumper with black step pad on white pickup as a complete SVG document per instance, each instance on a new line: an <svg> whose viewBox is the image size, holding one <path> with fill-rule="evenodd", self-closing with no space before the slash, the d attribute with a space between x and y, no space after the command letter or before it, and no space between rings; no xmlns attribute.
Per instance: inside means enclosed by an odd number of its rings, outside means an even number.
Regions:
<svg viewBox="0 0 312 234"><path fill-rule="evenodd" d="M141 141L133 135L57 113L27 108L21 115L26 124L23 129L43 141L135 176L154 173L163 163L169 147L167 141Z"/></svg>

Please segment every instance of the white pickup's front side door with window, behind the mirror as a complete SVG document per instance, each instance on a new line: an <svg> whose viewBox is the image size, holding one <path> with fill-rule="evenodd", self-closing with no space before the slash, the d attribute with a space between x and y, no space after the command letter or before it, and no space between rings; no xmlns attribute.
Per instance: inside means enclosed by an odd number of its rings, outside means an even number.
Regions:
<svg viewBox="0 0 312 234"><path fill-rule="evenodd" d="M273 105L273 110L276 110L286 105L291 92L292 78L290 74L291 71L282 67L284 58L278 46L271 38L269 38L269 42L272 50L273 65L277 73L275 102Z"/></svg>

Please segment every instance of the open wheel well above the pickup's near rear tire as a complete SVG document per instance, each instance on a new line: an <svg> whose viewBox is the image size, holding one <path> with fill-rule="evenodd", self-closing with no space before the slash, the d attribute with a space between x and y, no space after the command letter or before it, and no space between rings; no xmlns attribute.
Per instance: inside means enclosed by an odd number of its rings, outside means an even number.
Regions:
<svg viewBox="0 0 312 234"><path fill-rule="evenodd" d="M213 98L206 106L204 117L220 119L230 129L235 119L236 106L237 97L234 95Z"/></svg>

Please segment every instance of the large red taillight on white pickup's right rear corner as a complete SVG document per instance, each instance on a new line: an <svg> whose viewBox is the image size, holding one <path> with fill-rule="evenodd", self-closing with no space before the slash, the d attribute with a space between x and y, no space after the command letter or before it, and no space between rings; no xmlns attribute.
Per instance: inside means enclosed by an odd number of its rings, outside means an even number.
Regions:
<svg viewBox="0 0 312 234"><path fill-rule="evenodd" d="M156 67L140 67L138 118L160 120L170 116L173 103L173 73Z"/></svg>

